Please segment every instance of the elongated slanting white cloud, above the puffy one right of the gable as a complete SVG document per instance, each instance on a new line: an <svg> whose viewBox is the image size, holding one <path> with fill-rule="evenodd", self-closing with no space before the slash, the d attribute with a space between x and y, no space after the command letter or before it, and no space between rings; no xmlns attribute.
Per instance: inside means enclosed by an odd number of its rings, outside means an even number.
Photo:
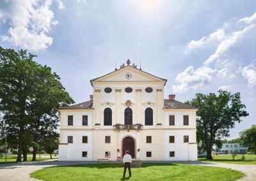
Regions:
<svg viewBox="0 0 256 181"><path fill-rule="evenodd" d="M198 41L192 40L188 44L188 50L194 50L195 48L204 48L205 46L214 45L225 38L224 29L217 29L214 33L209 36L204 36Z"/></svg>

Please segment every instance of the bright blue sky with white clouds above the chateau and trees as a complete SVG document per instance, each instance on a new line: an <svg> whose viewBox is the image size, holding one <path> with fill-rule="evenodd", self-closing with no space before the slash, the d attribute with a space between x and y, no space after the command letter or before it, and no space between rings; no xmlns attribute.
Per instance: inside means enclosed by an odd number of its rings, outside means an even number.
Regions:
<svg viewBox="0 0 256 181"><path fill-rule="evenodd" d="M256 124L256 1L1 0L0 46L38 55L76 103L130 59L168 80L165 98L241 92L250 115L227 140Z"/></svg>

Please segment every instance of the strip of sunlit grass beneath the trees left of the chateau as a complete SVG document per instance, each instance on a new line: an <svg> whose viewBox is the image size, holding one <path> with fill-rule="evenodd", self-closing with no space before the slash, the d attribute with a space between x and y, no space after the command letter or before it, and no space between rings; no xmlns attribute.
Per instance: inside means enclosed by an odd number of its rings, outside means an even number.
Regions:
<svg viewBox="0 0 256 181"><path fill-rule="evenodd" d="M52 154L52 159L58 159L58 155L57 157L54 157L55 154ZM28 161L32 161L32 154L28 154ZM7 163L15 163L17 159L17 155L7 155ZM22 157L23 159L23 157ZM39 154L36 154L36 161L44 161L44 160L48 160L51 159L49 154L41 154L41 158L39 158ZM0 164L1 163L5 163L5 155L3 154L3 157L0 157Z"/></svg>

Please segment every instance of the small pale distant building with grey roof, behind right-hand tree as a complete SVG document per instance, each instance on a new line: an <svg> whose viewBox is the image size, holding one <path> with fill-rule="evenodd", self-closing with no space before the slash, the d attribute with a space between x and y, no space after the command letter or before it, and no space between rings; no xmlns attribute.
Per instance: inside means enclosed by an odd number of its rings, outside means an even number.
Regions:
<svg viewBox="0 0 256 181"><path fill-rule="evenodd" d="M223 143L222 148L218 150L218 154L246 154L248 147L243 147L239 143Z"/></svg>

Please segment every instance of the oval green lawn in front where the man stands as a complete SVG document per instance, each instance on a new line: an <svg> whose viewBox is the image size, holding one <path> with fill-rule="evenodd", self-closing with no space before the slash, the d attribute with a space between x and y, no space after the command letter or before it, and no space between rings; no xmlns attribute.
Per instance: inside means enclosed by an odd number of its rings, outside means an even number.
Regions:
<svg viewBox="0 0 256 181"><path fill-rule="evenodd" d="M31 177L50 180L236 180L243 173L227 168L191 164L143 163L132 168L132 177L122 178L124 164L80 164L44 168L31 173ZM126 175L128 176L128 170Z"/></svg>

